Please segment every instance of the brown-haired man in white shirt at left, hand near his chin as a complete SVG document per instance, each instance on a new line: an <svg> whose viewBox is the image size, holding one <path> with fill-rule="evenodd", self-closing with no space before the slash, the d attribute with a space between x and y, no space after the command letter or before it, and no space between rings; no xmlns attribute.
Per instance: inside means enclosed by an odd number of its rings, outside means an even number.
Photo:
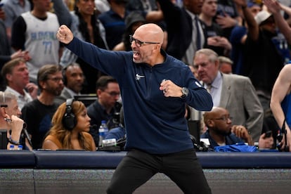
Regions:
<svg viewBox="0 0 291 194"><path fill-rule="evenodd" d="M29 71L25 60L15 58L2 67L1 75L6 81L6 90L18 98L20 110L26 104L37 98L38 87L30 82Z"/></svg>

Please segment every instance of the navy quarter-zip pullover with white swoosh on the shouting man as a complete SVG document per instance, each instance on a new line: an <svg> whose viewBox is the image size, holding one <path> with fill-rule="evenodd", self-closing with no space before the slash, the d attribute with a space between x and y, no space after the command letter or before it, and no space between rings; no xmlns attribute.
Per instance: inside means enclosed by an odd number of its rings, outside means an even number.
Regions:
<svg viewBox="0 0 291 194"><path fill-rule="evenodd" d="M127 149L167 154L193 148L184 117L185 103L201 111L211 110L213 103L185 63L162 50L164 63L150 66L134 63L132 51L107 51L77 38L66 46L86 63L117 79L122 94ZM188 88L188 96L165 97L160 91L162 79Z"/></svg>

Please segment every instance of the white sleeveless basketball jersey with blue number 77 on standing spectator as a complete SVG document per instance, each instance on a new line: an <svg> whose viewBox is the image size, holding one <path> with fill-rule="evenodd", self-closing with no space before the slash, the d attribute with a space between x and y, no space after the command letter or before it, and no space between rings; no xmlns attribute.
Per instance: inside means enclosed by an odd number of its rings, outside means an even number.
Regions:
<svg viewBox="0 0 291 194"><path fill-rule="evenodd" d="M30 52L32 59L27 62L30 79L37 81L39 68L46 64L58 65L60 44L56 38L58 18L56 14L47 12L46 20L34 17L31 12L22 13L26 23L25 50Z"/></svg>

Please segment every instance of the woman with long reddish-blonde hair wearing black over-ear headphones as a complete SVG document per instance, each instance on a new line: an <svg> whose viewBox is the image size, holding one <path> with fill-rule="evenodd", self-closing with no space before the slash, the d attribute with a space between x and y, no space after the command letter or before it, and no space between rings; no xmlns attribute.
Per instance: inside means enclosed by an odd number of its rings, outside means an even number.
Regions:
<svg viewBox="0 0 291 194"><path fill-rule="evenodd" d="M67 99L53 115L52 127L42 148L96 151L93 138L88 133L90 120L84 103L73 98Z"/></svg>

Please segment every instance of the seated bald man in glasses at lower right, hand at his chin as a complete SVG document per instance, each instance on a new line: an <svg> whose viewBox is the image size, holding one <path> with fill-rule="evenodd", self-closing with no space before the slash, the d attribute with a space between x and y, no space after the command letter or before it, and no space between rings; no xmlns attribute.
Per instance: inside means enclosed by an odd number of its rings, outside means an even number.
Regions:
<svg viewBox="0 0 291 194"><path fill-rule="evenodd" d="M205 112L204 122L207 131L200 138L208 138L210 148L235 143L254 145L247 129L242 125L232 125L229 112L224 108L214 107L211 111ZM259 138L259 148L272 148L273 138L265 138L265 135L261 134Z"/></svg>

